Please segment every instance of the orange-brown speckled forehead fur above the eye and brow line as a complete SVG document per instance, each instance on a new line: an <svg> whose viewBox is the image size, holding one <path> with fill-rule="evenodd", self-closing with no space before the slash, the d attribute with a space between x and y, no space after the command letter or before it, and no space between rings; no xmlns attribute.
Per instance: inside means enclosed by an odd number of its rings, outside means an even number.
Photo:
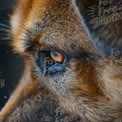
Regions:
<svg viewBox="0 0 122 122"><path fill-rule="evenodd" d="M12 21L13 47L21 54L37 42L72 54L94 50L71 0L22 0Z"/></svg>

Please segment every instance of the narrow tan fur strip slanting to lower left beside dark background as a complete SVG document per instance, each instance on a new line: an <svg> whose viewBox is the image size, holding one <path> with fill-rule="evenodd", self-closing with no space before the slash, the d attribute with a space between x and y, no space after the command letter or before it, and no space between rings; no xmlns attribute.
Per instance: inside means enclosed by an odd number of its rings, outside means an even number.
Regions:
<svg viewBox="0 0 122 122"><path fill-rule="evenodd" d="M11 95L9 101L6 103L5 107L1 110L0 119L4 119L8 114L10 114L10 112L13 110L13 106L16 106L18 101L29 96L33 90L37 88L37 83L32 81L29 61L27 61L25 64L26 70L23 74L23 78Z"/></svg>

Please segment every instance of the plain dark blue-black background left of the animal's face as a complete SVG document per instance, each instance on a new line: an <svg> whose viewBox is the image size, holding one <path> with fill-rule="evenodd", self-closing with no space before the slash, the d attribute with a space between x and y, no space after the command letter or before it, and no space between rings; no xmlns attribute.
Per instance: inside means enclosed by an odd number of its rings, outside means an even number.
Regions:
<svg viewBox="0 0 122 122"><path fill-rule="evenodd" d="M0 0L0 109L17 86L24 66L22 57L12 52L11 40L3 39L7 37L3 29L9 27L3 27L1 24L10 26L9 15L15 3L15 0Z"/></svg>

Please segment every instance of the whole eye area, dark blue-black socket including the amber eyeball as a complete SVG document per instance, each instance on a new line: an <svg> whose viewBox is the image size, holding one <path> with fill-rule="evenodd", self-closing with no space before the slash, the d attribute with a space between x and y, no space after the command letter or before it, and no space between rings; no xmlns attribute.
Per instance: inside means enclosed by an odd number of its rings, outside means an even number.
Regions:
<svg viewBox="0 0 122 122"><path fill-rule="evenodd" d="M68 60L63 53L58 51L43 50L38 54L37 64L43 75L56 75L66 70Z"/></svg>

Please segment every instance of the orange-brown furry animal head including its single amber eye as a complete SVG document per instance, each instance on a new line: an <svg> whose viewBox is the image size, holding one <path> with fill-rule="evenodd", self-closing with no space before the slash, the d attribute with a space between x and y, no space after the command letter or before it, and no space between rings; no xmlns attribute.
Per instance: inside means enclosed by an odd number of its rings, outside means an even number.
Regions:
<svg viewBox="0 0 122 122"><path fill-rule="evenodd" d="M29 65L26 72L66 110L86 121L111 121L121 115L121 64L111 66L96 50L105 28L92 32L80 12L71 0L21 0L11 17L12 46Z"/></svg>

